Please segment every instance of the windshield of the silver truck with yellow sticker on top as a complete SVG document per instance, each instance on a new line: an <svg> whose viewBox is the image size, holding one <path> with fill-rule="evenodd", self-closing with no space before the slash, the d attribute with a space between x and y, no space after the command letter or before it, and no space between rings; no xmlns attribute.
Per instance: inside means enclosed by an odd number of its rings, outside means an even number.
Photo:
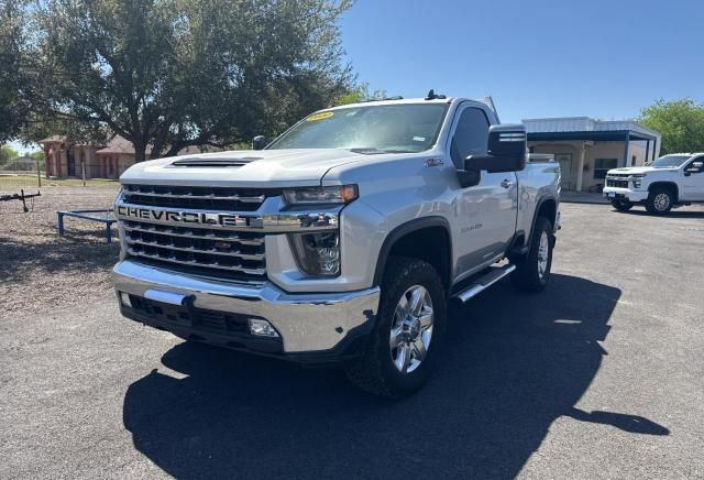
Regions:
<svg viewBox="0 0 704 480"><path fill-rule="evenodd" d="M447 109L447 103L406 103L321 111L306 117L270 149L421 152L435 143Z"/></svg>

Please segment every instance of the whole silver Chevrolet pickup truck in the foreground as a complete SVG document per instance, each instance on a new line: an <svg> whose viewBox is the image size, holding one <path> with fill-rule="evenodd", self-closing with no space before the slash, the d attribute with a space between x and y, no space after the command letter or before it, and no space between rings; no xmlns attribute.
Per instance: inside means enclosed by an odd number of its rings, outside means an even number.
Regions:
<svg viewBox="0 0 704 480"><path fill-rule="evenodd" d="M178 337L419 389L447 307L550 279L560 167L488 102L429 95L315 112L251 151L120 178L122 315ZM517 312L517 315L519 313Z"/></svg>

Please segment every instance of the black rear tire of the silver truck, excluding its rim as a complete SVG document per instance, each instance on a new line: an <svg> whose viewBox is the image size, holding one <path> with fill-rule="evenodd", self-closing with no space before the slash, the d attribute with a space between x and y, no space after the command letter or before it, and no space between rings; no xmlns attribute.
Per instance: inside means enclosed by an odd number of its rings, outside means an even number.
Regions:
<svg viewBox="0 0 704 480"><path fill-rule="evenodd" d="M542 234L548 238L548 258L547 266L542 274L538 268L540 253L540 239ZM550 270L552 268L552 247L554 239L552 234L552 223L546 217L538 217L532 229L530 241L530 250L522 258L515 259L516 270L510 274L510 281L514 287L519 292L540 292L550 280Z"/></svg>

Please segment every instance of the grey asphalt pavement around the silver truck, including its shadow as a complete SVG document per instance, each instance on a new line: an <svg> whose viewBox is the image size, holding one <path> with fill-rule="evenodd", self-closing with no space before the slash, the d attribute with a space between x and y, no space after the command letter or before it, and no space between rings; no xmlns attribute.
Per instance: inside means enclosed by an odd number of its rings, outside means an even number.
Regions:
<svg viewBox="0 0 704 480"><path fill-rule="evenodd" d="M548 288L454 308L402 402L112 296L6 320L0 478L704 478L704 208L562 214Z"/></svg>

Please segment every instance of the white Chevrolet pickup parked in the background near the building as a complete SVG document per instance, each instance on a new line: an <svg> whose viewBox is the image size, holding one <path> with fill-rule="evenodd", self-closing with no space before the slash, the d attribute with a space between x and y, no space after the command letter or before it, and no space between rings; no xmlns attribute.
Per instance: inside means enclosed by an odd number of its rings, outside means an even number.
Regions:
<svg viewBox="0 0 704 480"><path fill-rule="evenodd" d="M704 153L675 153L647 166L609 170L604 196L619 211L639 204L654 215L704 203Z"/></svg>

